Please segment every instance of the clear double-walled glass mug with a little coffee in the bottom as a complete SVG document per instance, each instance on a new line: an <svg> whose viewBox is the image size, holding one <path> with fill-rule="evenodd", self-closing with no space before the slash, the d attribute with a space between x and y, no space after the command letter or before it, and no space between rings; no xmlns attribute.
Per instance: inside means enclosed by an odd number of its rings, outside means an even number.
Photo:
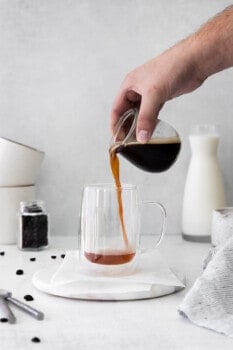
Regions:
<svg viewBox="0 0 233 350"><path fill-rule="evenodd" d="M122 219L120 220L117 191L122 196ZM162 223L153 248L140 246L140 212L146 207L159 209ZM151 207L151 208L148 208ZM154 218L151 213L150 218ZM80 216L80 260L83 272L103 274L131 273L142 253L153 250L164 235L166 211L157 202L139 202L135 185L94 184L84 187ZM151 221L151 220L150 220Z"/></svg>

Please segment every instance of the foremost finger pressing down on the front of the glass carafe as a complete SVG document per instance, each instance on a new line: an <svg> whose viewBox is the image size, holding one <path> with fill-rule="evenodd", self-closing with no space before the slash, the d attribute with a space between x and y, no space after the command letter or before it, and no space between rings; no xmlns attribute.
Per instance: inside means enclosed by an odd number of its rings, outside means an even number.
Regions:
<svg viewBox="0 0 233 350"><path fill-rule="evenodd" d="M150 140L162 106L163 99L158 91L153 90L142 96L136 132L139 142L146 143Z"/></svg>

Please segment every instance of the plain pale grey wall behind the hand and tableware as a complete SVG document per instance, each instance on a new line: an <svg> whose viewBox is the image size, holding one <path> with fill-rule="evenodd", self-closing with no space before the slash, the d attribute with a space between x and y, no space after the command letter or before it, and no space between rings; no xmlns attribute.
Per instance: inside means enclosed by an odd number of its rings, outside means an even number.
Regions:
<svg viewBox="0 0 233 350"><path fill-rule="evenodd" d="M46 152L38 198L53 235L75 234L82 187L112 181L109 115L125 74L230 5L225 0L0 0L0 136ZM221 124L219 160L233 205L233 72L170 101L160 117L182 137L175 166L147 174L122 160L122 181L167 208L167 232L181 231L193 123Z"/></svg>

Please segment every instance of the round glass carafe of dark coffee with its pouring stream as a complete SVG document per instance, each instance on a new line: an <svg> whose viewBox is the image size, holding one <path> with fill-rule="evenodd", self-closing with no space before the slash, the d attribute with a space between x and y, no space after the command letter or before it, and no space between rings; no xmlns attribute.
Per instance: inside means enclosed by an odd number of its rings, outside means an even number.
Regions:
<svg viewBox="0 0 233 350"><path fill-rule="evenodd" d="M115 181L119 219L122 238L126 250L129 249L127 232L124 224L124 211L121 193L120 165L118 153L136 167L152 173L169 169L177 159L181 141L176 130L161 120L157 120L151 140L142 144L136 139L138 110L130 109L120 118L113 136L110 149L110 165Z"/></svg>

